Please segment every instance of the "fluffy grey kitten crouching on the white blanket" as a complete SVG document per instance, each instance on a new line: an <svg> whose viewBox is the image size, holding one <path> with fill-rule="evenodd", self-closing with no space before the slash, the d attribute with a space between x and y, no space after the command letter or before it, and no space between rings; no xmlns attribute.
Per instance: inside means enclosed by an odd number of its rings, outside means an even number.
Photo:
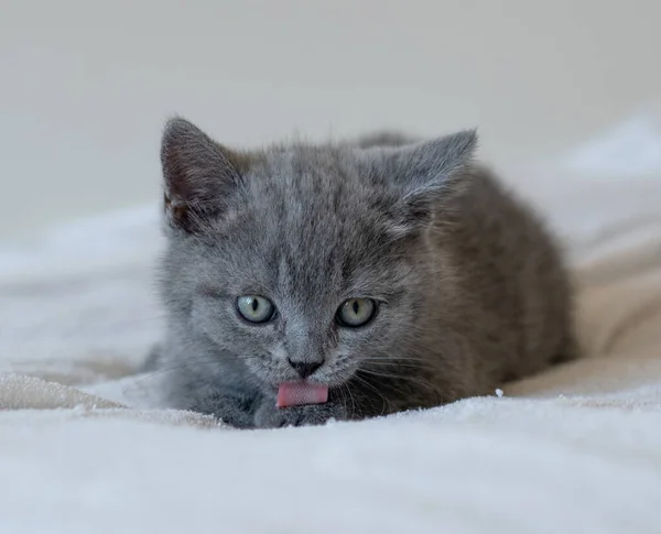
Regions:
<svg viewBox="0 0 661 534"><path fill-rule="evenodd" d="M475 145L464 131L237 152L171 120L169 324L149 362L169 404L241 428L322 424L491 393L573 359L559 248L472 162ZM279 384L301 378L328 402L277 408Z"/></svg>

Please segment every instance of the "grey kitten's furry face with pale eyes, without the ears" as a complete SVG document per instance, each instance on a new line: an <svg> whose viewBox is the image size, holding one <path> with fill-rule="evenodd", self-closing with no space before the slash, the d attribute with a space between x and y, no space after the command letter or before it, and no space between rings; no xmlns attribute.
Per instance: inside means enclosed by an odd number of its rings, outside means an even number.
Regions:
<svg viewBox="0 0 661 534"><path fill-rule="evenodd" d="M301 380L296 362L321 363L308 381L340 384L416 329L421 242L358 173L339 154L272 154L246 173L232 215L173 243L169 279L188 282L177 298L191 327L267 386Z"/></svg>

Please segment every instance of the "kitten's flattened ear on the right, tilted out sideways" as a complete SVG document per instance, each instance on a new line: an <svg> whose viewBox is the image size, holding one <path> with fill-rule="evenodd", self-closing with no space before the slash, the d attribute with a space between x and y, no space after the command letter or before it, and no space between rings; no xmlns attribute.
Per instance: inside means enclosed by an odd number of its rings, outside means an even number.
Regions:
<svg viewBox="0 0 661 534"><path fill-rule="evenodd" d="M425 227L437 206L467 185L477 146L475 130L382 153L382 171L399 197L392 215L401 229Z"/></svg>

